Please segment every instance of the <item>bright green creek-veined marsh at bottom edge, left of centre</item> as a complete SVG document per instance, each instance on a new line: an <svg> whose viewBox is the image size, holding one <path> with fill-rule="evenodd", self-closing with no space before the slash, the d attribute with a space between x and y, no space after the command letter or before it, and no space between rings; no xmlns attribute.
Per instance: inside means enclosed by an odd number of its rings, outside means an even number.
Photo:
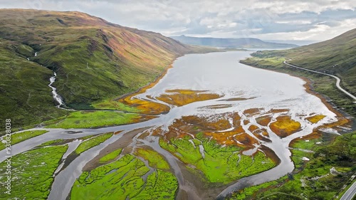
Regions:
<svg viewBox="0 0 356 200"><path fill-rule="evenodd" d="M177 179L170 172L150 169L126 154L121 159L83 172L73 185L71 199L174 199Z"/></svg>

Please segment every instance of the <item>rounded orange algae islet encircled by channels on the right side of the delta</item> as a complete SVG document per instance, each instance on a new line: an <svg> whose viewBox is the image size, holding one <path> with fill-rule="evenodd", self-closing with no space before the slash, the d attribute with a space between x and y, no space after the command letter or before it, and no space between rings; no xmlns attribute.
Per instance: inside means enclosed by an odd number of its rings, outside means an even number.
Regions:
<svg viewBox="0 0 356 200"><path fill-rule="evenodd" d="M269 127L279 137L287 137L300 130L300 122L292 120L290 116L280 116L276 120Z"/></svg>

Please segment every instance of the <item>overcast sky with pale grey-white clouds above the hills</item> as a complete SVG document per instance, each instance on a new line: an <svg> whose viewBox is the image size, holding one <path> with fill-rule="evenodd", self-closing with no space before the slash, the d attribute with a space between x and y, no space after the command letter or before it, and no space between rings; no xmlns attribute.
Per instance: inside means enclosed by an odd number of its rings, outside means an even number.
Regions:
<svg viewBox="0 0 356 200"><path fill-rule="evenodd" d="M0 0L0 8L83 11L165 36L323 41L356 28L356 0Z"/></svg>

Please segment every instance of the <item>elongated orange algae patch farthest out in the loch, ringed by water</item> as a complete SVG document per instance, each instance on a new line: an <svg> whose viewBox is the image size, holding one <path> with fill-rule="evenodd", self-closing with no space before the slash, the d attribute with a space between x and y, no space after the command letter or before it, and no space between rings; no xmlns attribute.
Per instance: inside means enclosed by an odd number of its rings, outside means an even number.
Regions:
<svg viewBox="0 0 356 200"><path fill-rule="evenodd" d="M167 102L170 105L187 105L192 102L213 100L221 98L221 95L206 93L205 90L166 90L166 93L157 97L157 100Z"/></svg>

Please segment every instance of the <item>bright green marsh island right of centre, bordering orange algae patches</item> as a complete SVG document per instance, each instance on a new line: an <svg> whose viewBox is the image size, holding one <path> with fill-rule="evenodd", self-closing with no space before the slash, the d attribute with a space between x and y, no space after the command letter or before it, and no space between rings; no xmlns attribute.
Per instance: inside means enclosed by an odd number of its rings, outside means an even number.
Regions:
<svg viewBox="0 0 356 200"><path fill-rule="evenodd" d="M191 164L204 174L204 179L210 183L228 184L231 181L263 172L275 166L271 159L262 152L256 152L253 157L239 154L238 147L221 147L214 140L207 140L202 133L197 134L204 147L204 157L199 147L189 142L189 137L172 139L169 142L159 141L159 145L174 154L185 164ZM197 144L197 142L194 142Z"/></svg>

